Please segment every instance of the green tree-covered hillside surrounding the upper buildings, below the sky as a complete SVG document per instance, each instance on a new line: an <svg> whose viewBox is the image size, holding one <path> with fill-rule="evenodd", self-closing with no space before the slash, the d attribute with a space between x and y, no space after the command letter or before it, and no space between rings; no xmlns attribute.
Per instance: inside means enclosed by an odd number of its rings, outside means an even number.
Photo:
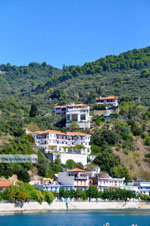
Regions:
<svg viewBox="0 0 150 226"><path fill-rule="evenodd" d="M108 122L92 118L94 126L87 132L92 134L92 152L97 154L94 163L112 176L150 179L150 47L62 69L46 62L0 65L0 152L38 152L25 128L65 130L64 119L54 120L55 104L82 102L92 109L96 97L107 95L118 96L120 114ZM42 154L39 158L36 166L1 164L0 176L16 173L28 181L27 171L52 176L64 167Z"/></svg>

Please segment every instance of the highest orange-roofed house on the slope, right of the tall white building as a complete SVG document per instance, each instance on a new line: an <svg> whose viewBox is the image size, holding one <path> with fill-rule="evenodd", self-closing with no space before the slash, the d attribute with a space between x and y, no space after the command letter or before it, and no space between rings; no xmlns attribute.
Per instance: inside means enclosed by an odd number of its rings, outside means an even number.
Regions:
<svg viewBox="0 0 150 226"><path fill-rule="evenodd" d="M96 99L97 105L111 105L118 107L118 98L116 96L100 97Z"/></svg>

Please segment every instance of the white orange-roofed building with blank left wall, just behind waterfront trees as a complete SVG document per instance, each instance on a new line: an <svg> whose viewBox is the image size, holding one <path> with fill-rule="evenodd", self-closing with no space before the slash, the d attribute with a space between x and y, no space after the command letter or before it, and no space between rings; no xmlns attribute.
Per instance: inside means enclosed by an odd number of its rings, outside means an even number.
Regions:
<svg viewBox="0 0 150 226"><path fill-rule="evenodd" d="M88 187L89 175L88 171L82 169L72 169L66 172L58 173L58 182L61 185L69 185L73 187Z"/></svg>

